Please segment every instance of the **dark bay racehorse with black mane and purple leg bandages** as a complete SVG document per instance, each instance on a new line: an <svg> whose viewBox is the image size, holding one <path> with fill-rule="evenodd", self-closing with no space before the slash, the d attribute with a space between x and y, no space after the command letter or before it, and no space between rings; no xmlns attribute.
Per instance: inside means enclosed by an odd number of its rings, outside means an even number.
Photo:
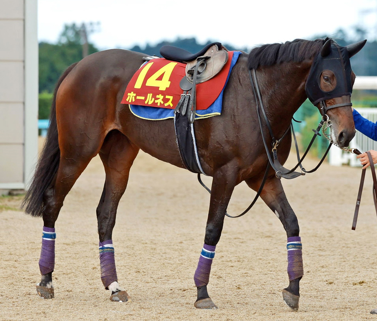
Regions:
<svg viewBox="0 0 377 321"><path fill-rule="evenodd" d="M216 308L208 295L207 284L233 189L245 181L251 189L258 190L268 165L249 70L256 70L266 116L274 136L280 138L290 126L293 114L307 99L305 84L311 66L326 43L328 39L297 39L261 45L249 54L242 52L225 87L221 115L195 122L201 166L204 173L213 177L204 246L194 277L198 288L194 304L197 308ZM349 64L349 58L364 43L342 47L348 50L345 63ZM331 44L336 43L330 40ZM44 222L39 261L42 277L37 284L37 292L43 298L54 297L52 272L59 211L74 183L97 154L106 172L97 207L101 280L111 292L110 300L124 302L129 298L116 277L112 230L130 168L140 149L184 168L173 121L138 118L130 112L129 105L120 103L127 84L146 56L128 50L104 50L72 64L58 80L46 142L22 204L26 213L42 217ZM353 86L355 74L348 76ZM336 79L331 70L323 70L315 83L323 91L331 92L342 81L345 79ZM356 132L349 102L350 93L325 100L328 106L346 105L327 112L332 121L331 137L339 147L348 146ZM267 129L264 124L262 130L270 146L272 139ZM290 147L291 136L286 135L279 144L281 164L287 160ZM283 298L289 307L297 310L299 282L303 276L299 224L280 179L271 169L261 197L287 232L289 285L283 290Z"/></svg>

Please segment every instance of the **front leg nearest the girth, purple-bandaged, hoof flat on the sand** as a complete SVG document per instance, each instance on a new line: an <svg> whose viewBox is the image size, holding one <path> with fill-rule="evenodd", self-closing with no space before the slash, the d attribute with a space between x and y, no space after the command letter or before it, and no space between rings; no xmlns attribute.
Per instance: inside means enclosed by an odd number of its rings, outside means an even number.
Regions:
<svg viewBox="0 0 377 321"><path fill-rule="evenodd" d="M233 167L234 168L234 167ZM224 225L225 211L236 182L236 172L221 168L212 180L210 208L205 228L204 245L199 257L194 281L198 288L198 297L194 306L198 309L217 309L207 292L207 284L211 272L212 259L215 256L216 244L220 240Z"/></svg>

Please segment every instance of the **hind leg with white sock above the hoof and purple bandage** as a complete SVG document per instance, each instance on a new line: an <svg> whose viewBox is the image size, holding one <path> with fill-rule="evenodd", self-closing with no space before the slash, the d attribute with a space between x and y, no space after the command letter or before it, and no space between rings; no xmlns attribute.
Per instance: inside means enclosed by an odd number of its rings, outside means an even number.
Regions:
<svg viewBox="0 0 377 321"><path fill-rule="evenodd" d="M100 203L97 207L98 234L100 237L101 280L105 289L111 291L110 300L125 302L129 299L121 289L116 276L112 231L116 209L126 190L130 168L139 148L131 144L126 136L113 130L106 136L100 150L106 180Z"/></svg>

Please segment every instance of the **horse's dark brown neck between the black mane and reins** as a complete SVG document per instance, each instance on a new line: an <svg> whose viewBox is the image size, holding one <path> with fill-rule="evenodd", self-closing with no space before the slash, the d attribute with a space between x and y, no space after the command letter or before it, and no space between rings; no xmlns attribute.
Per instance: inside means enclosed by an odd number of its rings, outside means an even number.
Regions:
<svg viewBox="0 0 377 321"><path fill-rule="evenodd" d="M311 61L284 63L258 69L257 78L271 127L288 128L293 114L305 101L305 82ZM260 79L260 80L259 80ZM279 133L276 133L278 136Z"/></svg>

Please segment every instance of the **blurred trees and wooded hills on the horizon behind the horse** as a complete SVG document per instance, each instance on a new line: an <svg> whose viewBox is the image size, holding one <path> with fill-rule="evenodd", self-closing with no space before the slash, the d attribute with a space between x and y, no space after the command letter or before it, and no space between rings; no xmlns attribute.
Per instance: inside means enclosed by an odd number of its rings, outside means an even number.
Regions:
<svg viewBox="0 0 377 321"><path fill-rule="evenodd" d="M40 111L39 118L46 119L52 101L52 93L60 75L70 65L88 54L97 52L99 49L90 41L88 36L95 31L98 23L66 24L61 32L57 43L39 43L39 92ZM313 37L325 38L326 35ZM339 29L331 38L335 38L341 46L365 39L366 31L362 28L354 28L351 32ZM221 41L218 39L217 41ZM133 46L130 50L143 52L147 55L159 55L159 49L164 45L181 47L190 52L198 52L208 43L198 43L196 38L177 38L175 41L160 41L156 45ZM244 50L247 48L235 48L230 44L224 44L228 50ZM352 69L356 75L377 75L377 41L368 41L357 55L351 58Z"/></svg>

